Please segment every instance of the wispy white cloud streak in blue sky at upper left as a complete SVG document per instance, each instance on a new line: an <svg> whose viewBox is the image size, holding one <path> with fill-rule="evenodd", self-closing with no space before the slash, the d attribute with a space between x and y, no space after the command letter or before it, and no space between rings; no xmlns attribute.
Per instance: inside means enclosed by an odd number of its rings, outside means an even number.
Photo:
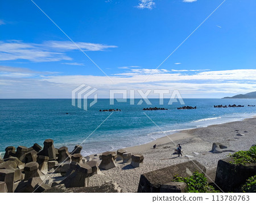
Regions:
<svg viewBox="0 0 256 203"><path fill-rule="evenodd" d="M114 45L77 42L84 51L105 51ZM21 40L0 41L0 61L24 59L33 62L72 60L67 52L77 50L69 41L46 41L42 44L24 43Z"/></svg>

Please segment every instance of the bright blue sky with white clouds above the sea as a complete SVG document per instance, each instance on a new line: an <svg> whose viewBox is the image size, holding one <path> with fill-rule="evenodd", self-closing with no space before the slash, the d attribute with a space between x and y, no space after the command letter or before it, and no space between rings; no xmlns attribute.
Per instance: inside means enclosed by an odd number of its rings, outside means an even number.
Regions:
<svg viewBox="0 0 256 203"><path fill-rule="evenodd" d="M81 84L99 98L254 92L255 9L255 0L0 0L0 98L71 98Z"/></svg>

